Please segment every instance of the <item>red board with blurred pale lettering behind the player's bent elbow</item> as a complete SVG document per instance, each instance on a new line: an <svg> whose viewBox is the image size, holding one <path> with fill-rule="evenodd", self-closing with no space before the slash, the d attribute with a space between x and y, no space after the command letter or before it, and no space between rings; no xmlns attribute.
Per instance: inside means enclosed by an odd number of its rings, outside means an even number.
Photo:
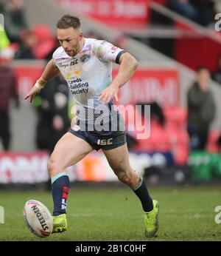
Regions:
<svg viewBox="0 0 221 256"><path fill-rule="evenodd" d="M117 70L113 70L113 77ZM161 106L180 104L178 70L174 68L138 68L130 82L119 91L119 104L156 101ZM130 90L129 90L130 88Z"/></svg>

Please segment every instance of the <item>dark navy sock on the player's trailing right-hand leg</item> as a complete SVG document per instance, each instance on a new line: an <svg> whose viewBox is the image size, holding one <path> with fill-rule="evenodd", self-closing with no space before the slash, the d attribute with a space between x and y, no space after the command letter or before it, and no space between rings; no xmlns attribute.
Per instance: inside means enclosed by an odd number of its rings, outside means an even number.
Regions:
<svg viewBox="0 0 221 256"><path fill-rule="evenodd" d="M152 198L150 197L146 183L143 178L136 187L133 188L133 192L138 196L141 201L144 212L150 212L153 209Z"/></svg>

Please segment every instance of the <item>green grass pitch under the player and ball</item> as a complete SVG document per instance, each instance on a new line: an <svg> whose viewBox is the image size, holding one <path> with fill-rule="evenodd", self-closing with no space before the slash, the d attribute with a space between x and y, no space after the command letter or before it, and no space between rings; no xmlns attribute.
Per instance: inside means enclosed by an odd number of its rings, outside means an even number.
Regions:
<svg viewBox="0 0 221 256"><path fill-rule="evenodd" d="M52 197L44 191L0 191L4 224L0 241L40 240L221 240L221 223L215 222L216 206L221 205L219 186L150 187L152 198L160 203L156 238L144 237L141 203L126 186L113 188L74 188L68 201L67 232L48 238L33 235L24 223L23 206L29 199L42 201L52 212Z"/></svg>

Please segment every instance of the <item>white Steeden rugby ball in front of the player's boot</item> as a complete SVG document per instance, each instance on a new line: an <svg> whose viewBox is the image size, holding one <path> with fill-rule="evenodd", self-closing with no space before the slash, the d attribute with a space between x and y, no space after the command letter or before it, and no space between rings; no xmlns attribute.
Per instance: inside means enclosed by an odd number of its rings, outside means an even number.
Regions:
<svg viewBox="0 0 221 256"><path fill-rule="evenodd" d="M24 221L32 233L40 238L52 234L53 218L49 209L36 200L29 200L23 209Z"/></svg>

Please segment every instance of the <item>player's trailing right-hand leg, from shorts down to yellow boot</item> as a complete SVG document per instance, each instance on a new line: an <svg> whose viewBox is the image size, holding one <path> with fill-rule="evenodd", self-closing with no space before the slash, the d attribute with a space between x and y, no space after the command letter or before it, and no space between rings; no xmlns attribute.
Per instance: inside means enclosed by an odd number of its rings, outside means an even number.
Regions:
<svg viewBox="0 0 221 256"><path fill-rule="evenodd" d="M103 152L119 181L130 186L140 199L144 209L145 234L153 237L158 230L158 202L152 200L144 179L130 166L127 144Z"/></svg>

